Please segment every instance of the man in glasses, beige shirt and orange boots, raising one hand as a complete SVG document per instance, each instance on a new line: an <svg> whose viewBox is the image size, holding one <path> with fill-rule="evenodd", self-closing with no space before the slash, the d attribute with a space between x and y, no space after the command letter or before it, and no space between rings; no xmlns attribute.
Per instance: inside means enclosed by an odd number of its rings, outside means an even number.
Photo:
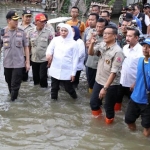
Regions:
<svg viewBox="0 0 150 150"><path fill-rule="evenodd" d="M93 93L90 100L92 114L98 116L101 113L102 99L105 97L104 108L106 111L105 121L110 124L114 120L114 105L119 85L119 71L124 60L121 48L116 43L117 29L114 26L106 26L103 32L103 40L99 47L94 48L96 39L91 39L88 49L89 55L100 51L101 56L97 66L97 73Z"/></svg>

